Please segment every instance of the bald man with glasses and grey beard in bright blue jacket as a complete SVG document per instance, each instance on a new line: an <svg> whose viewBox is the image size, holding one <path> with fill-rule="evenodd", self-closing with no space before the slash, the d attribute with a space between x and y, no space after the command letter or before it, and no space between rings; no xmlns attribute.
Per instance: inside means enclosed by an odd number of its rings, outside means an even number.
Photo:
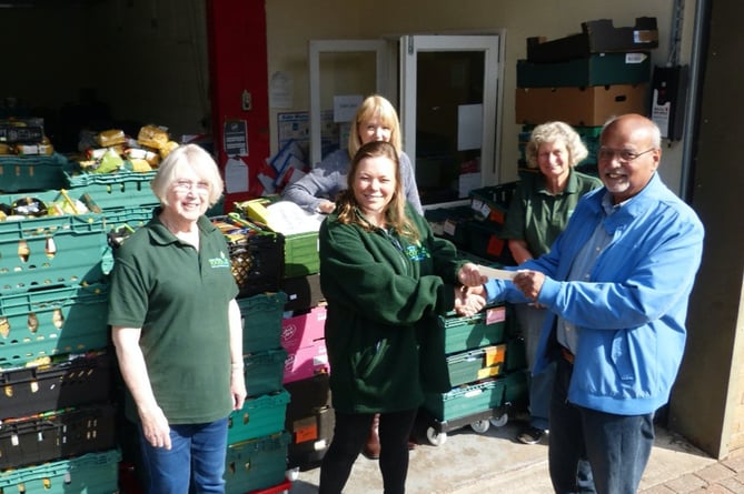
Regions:
<svg viewBox="0 0 744 494"><path fill-rule="evenodd" d="M550 361L549 470L556 493L579 487L586 458L601 494L633 494L685 346L703 225L662 182L656 124L638 114L605 124L597 168L604 188L577 204L550 252L489 281L489 301L549 311L535 372ZM581 468L579 468L581 471Z"/></svg>

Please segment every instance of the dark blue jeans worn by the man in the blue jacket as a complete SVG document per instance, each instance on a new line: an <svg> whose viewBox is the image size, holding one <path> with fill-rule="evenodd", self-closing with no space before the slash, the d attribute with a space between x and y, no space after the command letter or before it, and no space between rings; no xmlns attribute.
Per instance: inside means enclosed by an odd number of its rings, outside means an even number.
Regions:
<svg viewBox="0 0 744 494"><path fill-rule="evenodd" d="M572 371L558 359L548 446L553 488L557 494L635 494L654 444L654 414L615 415L568 403Z"/></svg>

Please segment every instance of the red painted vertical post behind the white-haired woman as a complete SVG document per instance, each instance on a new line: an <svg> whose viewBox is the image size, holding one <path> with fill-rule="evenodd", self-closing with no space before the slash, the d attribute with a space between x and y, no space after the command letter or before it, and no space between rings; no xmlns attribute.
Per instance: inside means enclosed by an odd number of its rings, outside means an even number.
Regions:
<svg viewBox="0 0 744 494"><path fill-rule="evenodd" d="M212 133L217 163L222 173L228 157L225 124L245 121L248 155L246 192L227 194L225 212L232 203L261 195L258 174L272 177L266 164L269 155L269 97L265 0L206 0L207 37L211 84ZM250 109L244 109L244 92L250 94Z"/></svg>

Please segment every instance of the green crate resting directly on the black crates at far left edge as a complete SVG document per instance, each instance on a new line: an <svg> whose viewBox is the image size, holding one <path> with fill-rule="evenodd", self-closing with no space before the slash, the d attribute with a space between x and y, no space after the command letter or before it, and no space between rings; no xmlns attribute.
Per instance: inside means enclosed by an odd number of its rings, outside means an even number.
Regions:
<svg viewBox="0 0 744 494"><path fill-rule="evenodd" d="M106 347L108 284L0 296L0 367Z"/></svg>

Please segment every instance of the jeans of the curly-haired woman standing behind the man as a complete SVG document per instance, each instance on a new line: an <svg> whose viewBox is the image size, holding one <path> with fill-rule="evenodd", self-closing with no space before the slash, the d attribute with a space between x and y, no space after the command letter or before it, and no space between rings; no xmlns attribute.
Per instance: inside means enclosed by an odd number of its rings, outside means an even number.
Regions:
<svg viewBox="0 0 744 494"><path fill-rule="evenodd" d="M539 374L532 374L537 354L537 344L543 329L543 321L547 314L546 309L536 308L532 304L514 304L522 337L525 340L525 356L529 377L529 425L536 429L548 430L548 415L550 411L550 394L553 393L553 380L555 379L555 364L549 364Z"/></svg>

